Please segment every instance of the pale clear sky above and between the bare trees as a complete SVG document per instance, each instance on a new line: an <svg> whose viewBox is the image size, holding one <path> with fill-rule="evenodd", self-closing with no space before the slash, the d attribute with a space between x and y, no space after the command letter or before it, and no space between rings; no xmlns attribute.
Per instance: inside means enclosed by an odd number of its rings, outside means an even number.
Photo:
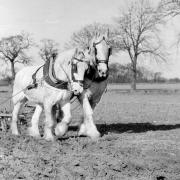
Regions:
<svg viewBox="0 0 180 180"><path fill-rule="evenodd" d="M0 0L0 39L25 31L31 34L36 43L41 39L50 38L63 47L72 33L85 25L94 22L112 24L113 18L118 16L129 1ZM162 28L161 37L170 53L168 62L157 64L153 61L143 61L141 65L160 71L165 77L180 78L180 50L173 46L177 34L180 33L179 22L180 19L175 18ZM38 52L34 51L32 57L34 63L42 63ZM110 61L128 63L129 57L120 53L111 57Z"/></svg>

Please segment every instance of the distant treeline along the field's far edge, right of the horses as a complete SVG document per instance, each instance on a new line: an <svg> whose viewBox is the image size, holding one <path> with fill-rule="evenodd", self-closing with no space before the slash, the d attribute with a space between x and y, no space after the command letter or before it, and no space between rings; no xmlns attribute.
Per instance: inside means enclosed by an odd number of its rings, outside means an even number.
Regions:
<svg viewBox="0 0 180 180"><path fill-rule="evenodd" d="M113 63L109 65L109 83L130 83L132 79L131 64L122 65ZM179 78L167 79L161 72L153 72L145 67L137 67L138 83L179 83Z"/></svg>

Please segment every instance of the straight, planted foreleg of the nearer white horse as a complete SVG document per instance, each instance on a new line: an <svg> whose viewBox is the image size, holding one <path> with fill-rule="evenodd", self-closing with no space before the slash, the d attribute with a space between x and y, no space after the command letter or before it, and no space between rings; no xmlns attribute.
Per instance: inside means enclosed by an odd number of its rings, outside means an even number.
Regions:
<svg viewBox="0 0 180 180"><path fill-rule="evenodd" d="M52 134L52 127L54 125L54 119L53 119L53 115L52 115L52 107L53 107L53 105L50 103L44 104L44 112L45 112L44 138L47 141L54 140L54 136Z"/></svg>

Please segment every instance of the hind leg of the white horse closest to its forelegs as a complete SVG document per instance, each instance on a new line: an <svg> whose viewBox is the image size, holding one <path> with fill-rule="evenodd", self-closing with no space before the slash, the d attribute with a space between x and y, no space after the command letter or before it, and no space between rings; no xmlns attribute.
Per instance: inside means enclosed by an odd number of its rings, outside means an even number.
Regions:
<svg viewBox="0 0 180 180"><path fill-rule="evenodd" d="M28 133L30 136L38 137L38 138L40 137L38 124L39 124L39 118L42 113L42 110L43 110L43 107L41 105L39 104L36 105L36 109L34 111L34 114L31 120L31 127L28 128Z"/></svg>

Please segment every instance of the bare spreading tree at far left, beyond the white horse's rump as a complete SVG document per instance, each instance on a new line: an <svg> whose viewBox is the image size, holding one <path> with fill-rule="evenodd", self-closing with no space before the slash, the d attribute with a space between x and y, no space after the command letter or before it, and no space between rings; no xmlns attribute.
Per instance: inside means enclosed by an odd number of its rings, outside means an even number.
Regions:
<svg viewBox="0 0 180 180"><path fill-rule="evenodd" d="M30 62L31 58L26 55L25 50L32 45L33 42L29 34L25 33L1 39L0 58L5 62L10 62L12 80L15 78L15 64L27 64Z"/></svg>

